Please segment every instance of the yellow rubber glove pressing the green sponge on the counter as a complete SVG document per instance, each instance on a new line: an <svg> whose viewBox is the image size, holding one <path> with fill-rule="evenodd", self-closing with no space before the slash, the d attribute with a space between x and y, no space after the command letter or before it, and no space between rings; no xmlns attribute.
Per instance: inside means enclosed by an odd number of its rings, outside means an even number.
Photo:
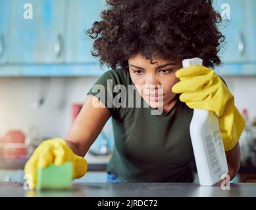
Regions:
<svg viewBox="0 0 256 210"><path fill-rule="evenodd" d="M33 189L36 188L38 167L47 167L52 163L61 165L65 161L72 161L74 179L79 179L85 175L87 171L86 159L74 154L65 140L62 138L52 138L41 142L24 167L28 186Z"/></svg>

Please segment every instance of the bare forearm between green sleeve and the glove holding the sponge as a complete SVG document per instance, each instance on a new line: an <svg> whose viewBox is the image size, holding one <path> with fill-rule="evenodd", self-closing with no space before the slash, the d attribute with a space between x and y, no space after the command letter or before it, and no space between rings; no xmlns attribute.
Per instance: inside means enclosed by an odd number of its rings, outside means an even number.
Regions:
<svg viewBox="0 0 256 210"><path fill-rule="evenodd" d="M97 100L102 106L95 108L93 100ZM88 95L84 106L64 138L74 154L82 157L86 155L110 116L109 109L98 98Z"/></svg>

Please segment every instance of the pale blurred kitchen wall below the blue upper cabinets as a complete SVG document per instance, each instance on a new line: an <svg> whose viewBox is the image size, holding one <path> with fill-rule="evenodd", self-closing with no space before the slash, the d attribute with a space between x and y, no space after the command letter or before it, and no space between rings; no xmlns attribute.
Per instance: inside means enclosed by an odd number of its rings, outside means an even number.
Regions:
<svg viewBox="0 0 256 210"><path fill-rule="evenodd" d="M234 94L238 109L248 108L256 117L256 77L223 77ZM40 78L0 78L0 135L8 129L28 133L36 126L40 138L64 137L71 125L71 106L84 102L97 77L52 77L45 104L33 110L39 98Z"/></svg>

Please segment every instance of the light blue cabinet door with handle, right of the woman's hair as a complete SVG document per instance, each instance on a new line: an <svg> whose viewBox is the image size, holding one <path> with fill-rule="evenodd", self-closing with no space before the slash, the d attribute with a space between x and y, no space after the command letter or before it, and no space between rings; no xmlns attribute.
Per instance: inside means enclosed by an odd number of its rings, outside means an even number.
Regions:
<svg viewBox="0 0 256 210"><path fill-rule="evenodd" d="M217 0L215 9L222 14L220 30L226 37L222 43L220 58L222 62L245 62L248 60L247 24L245 19L245 1Z"/></svg>

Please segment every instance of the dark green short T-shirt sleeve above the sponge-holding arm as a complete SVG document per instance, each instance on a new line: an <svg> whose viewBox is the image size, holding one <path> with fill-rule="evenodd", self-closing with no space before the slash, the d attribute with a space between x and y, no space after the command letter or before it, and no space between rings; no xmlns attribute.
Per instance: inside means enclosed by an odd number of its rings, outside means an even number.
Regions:
<svg viewBox="0 0 256 210"><path fill-rule="evenodd" d="M94 83L93 87L88 91L87 95L93 95L97 97L106 108L109 109L111 115L114 115L116 109L113 106L113 87L116 84L116 76L113 70L109 70L103 73L99 79Z"/></svg>

